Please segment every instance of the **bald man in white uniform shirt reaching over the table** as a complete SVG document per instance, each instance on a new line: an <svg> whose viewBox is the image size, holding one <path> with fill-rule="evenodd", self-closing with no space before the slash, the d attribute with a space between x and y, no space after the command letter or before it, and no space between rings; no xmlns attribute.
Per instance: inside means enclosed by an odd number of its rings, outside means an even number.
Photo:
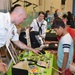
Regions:
<svg viewBox="0 0 75 75"><path fill-rule="evenodd" d="M9 12L0 12L0 48L6 45L6 42L10 40L19 48L24 50L27 49L38 54L38 50L32 49L19 41L19 35L17 34L16 25L22 23L26 19L26 17L27 13L21 6L16 7L11 12L11 14ZM0 65L5 67L3 63L0 63Z"/></svg>

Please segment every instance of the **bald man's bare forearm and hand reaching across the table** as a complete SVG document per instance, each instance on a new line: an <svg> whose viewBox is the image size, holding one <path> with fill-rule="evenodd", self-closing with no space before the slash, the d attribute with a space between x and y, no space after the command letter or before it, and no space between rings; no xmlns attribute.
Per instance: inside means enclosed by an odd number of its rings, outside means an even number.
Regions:
<svg viewBox="0 0 75 75"><path fill-rule="evenodd" d="M31 51L33 51L34 53L36 53L36 54L38 54L38 52L39 52L39 50L35 50L35 49L33 49L33 48L31 48L31 47L28 47L28 46L26 46L24 43L22 43L21 41L13 41L13 43L16 45L16 46L18 46L19 48L21 48L21 49L25 49L25 50L31 50Z"/></svg>

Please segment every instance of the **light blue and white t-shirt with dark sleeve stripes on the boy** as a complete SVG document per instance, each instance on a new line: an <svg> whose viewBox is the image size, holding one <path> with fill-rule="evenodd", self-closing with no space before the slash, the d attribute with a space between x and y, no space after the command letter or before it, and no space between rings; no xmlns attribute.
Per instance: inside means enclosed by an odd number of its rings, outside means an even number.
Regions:
<svg viewBox="0 0 75 75"><path fill-rule="evenodd" d="M69 68L69 64L73 62L73 54L74 54L73 39L69 33L62 36L59 41L57 64L60 68L62 68L63 58L65 58L64 57L65 52L69 53L68 61L66 65L66 68Z"/></svg>

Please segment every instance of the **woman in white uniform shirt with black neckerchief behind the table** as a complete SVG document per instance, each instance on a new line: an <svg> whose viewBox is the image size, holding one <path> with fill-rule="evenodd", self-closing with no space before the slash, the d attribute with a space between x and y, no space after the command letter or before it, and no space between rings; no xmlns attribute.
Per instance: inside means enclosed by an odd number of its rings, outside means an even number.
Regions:
<svg viewBox="0 0 75 75"><path fill-rule="evenodd" d="M31 32L30 32L30 39L31 39L31 45L33 48L40 47L43 43L41 40L41 43L38 41L39 38L45 40L46 36L46 29L47 29L47 22L44 20L44 12L40 11L38 13L38 17L34 19L30 25ZM38 37L38 35L40 37Z"/></svg>

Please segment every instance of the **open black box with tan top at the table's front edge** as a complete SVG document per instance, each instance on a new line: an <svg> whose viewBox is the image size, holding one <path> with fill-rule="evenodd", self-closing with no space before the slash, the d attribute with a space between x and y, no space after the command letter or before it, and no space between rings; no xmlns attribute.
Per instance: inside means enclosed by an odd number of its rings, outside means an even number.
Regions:
<svg viewBox="0 0 75 75"><path fill-rule="evenodd" d="M27 61L19 62L12 68L12 75L28 75L28 63Z"/></svg>

